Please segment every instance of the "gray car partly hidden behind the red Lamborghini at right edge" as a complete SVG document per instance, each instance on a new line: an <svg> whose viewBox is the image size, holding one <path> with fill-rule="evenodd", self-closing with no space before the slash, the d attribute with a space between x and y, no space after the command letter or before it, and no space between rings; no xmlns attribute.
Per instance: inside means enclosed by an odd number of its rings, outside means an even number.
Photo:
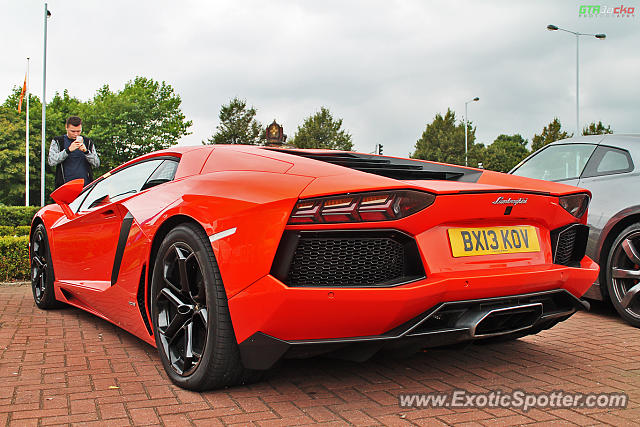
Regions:
<svg viewBox="0 0 640 427"><path fill-rule="evenodd" d="M611 300L640 327L640 135L592 135L546 145L511 170L591 191L587 255L600 264L584 295Z"/></svg>

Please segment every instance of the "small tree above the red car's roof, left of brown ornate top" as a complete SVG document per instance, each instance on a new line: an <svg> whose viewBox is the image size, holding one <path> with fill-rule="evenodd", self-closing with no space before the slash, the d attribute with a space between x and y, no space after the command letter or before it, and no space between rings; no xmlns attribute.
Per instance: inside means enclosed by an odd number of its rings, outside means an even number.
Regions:
<svg viewBox="0 0 640 427"><path fill-rule="evenodd" d="M245 99L233 98L220 108L220 124L209 138L210 144L264 145L266 135L262 124L256 120L256 109L247 108Z"/></svg>

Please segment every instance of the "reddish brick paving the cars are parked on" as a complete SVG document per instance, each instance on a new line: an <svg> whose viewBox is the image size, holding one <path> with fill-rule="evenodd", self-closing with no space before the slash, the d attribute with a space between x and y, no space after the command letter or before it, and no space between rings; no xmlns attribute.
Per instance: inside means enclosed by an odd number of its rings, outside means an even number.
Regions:
<svg viewBox="0 0 640 427"><path fill-rule="evenodd" d="M37 309L0 285L0 426L638 425L640 330L604 305L517 341L366 363L285 361L207 393L167 379L156 350L81 310ZM625 392L625 409L401 408L401 393Z"/></svg>

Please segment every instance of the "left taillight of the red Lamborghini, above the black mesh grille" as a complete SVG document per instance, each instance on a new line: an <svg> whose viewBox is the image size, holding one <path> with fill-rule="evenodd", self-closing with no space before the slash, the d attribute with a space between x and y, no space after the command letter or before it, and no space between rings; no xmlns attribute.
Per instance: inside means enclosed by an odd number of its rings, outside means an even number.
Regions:
<svg viewBox="0 0 640 427"><path fill-rule="evenodd" d="M398 190L299 200L289 224L389 221L412 215L435 198L431 193Z"/></svg>

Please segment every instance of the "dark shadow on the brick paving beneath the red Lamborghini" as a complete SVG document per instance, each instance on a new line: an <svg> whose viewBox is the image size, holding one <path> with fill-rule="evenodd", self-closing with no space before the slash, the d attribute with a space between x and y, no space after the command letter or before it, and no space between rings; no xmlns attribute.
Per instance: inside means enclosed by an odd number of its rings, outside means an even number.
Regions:
<svg viewBox="0 0 640 427"><path fill-rule="evenodd" d="M127 353L137 353L148 361L161 365L156 350L142 340L83 310L61 310L64 317L74 317L87 339L85 344L105 344L104 341L127 347ZM594 319L591 319L593 317ZM553 384L554 374L563 370L579 370L590 360L580 351L578 333L582 324L619 320L621 327L631 327L619 319L606 303L592 304L591 313L573 317L556 327L536 335L501 343L480 345L458 344L449 347L423 349L401 357L392 352L380 352L365 362L352 362L326 356L309 359L285 359L270 369L261 382L228 389L243 396L270 392L303 393L300 399L327 399L336 403L349 401L336 390L358 389L361 392L388 391L424 392L425 390L492 390L495 388L542 390ZM578 322L573 323L573 322ZM92 333L88 333L92 331ZM569 341L567 340L569 339ZM108 353L107 353L108 354ZM162 377L169 383L164 373ZM541 381L541 378L544 381ZM570 384L570 388L575 384ZM210 393L216 393L211 391ZM307 401L308 404L313 402Z"/></svg>

